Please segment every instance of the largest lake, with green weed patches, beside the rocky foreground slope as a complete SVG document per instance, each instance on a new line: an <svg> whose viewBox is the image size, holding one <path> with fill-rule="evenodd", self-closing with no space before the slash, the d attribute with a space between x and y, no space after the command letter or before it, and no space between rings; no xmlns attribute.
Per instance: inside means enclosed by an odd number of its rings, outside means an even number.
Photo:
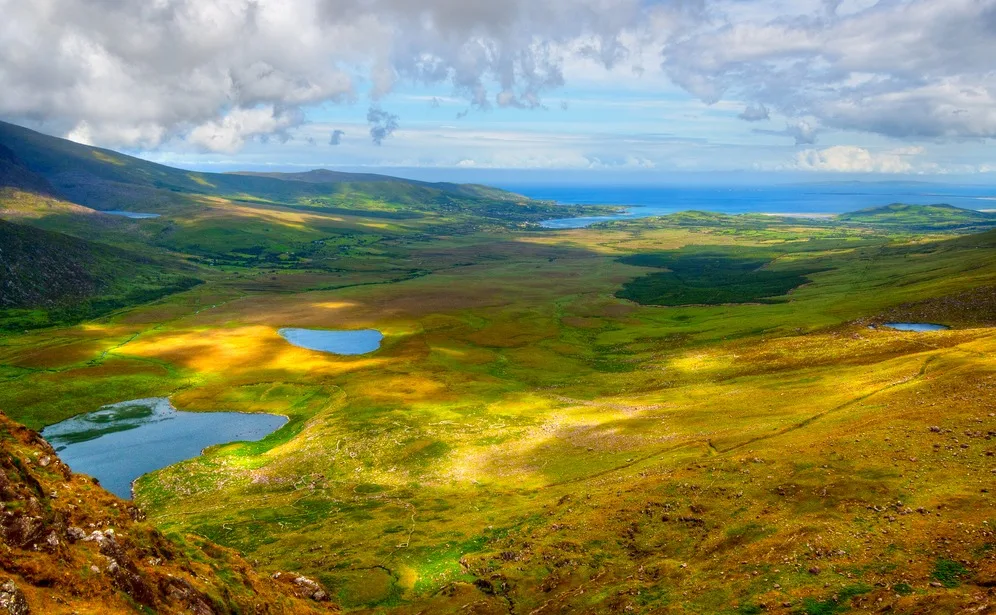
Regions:
<svg viewBox="0 0 996 615"><path fill-rule="evenodd" d="M42 430L74 472L89 474L114 495L131 499L131 483L154 470L197 457L215 444L255 442L284 426L272 414L181 412L154 397L104 406Z"/></svg>

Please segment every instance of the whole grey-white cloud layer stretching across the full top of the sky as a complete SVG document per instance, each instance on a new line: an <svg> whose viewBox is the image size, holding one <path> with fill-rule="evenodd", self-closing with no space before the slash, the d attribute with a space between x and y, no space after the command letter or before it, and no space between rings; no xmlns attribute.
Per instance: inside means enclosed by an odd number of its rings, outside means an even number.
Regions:
<svg viewBox="0 0 996 615"><path fill-rule="evenodd" d="M655 63L703 101L741 101L743 120L790 118L800 144L996 138L996 0L0 0L0 15L0 117L114 147L233 151L398 84L471 109L543 108L569 77L667 89Z"/></svg>

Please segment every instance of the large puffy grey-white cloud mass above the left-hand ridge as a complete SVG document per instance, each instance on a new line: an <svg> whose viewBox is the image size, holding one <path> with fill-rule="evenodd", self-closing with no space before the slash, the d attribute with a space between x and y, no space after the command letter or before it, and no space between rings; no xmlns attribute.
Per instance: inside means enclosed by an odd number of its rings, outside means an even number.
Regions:
<svg viewBox="0 0 996 615"><path fill-rule="evenodd" d="M355 100L364 84L375 100L407 81L533 108L570 57L615 66L652 16L703 1L0 0L0 117L109 146L228 151L251 136L244 115Z"/></svg>

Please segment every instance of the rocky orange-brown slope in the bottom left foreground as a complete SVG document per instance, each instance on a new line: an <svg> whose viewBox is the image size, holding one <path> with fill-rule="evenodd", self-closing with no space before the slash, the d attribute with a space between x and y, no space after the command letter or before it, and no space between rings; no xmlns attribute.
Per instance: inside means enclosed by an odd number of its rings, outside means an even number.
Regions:
<svg viewBox="0 0 996 615"><path fill-rule="evenodd" d="M74 474L41 436L2 412L0 501L3 613L336 610L311 579L263 576L210 541L163 535L141 510Z"/></svg>

